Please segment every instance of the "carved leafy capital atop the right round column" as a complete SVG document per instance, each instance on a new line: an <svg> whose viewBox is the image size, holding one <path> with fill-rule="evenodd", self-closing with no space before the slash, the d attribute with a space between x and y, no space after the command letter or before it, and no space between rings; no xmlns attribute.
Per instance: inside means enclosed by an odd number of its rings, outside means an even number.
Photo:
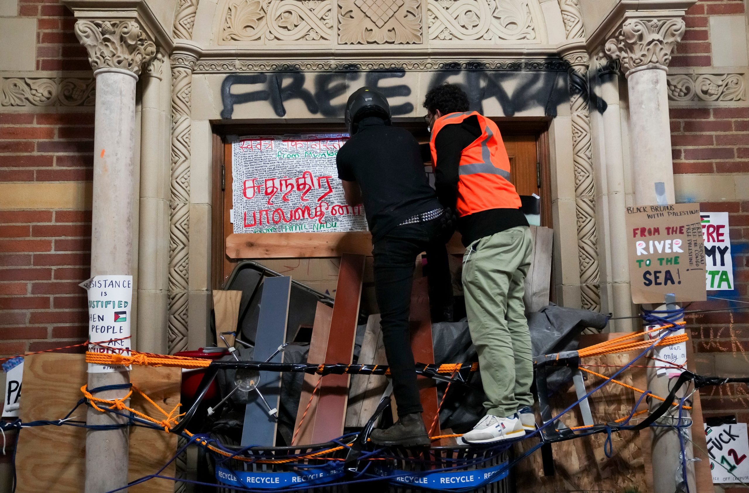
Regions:
<svg viewBox="0 0 749 493"><path fill-rule="evenodd" d="M625 74L646 65L668 67L671 52L684 36L683 19L627 19L606 42L606 52L622 61Z"/></svg>

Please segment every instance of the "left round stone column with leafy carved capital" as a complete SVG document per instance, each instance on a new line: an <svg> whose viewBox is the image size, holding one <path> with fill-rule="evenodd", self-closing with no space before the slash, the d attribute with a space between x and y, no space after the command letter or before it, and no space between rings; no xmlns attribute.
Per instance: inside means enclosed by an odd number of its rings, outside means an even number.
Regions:
<svg viewBox="0 0 749 493"><path fill-rule="evenodd" d="M136 82L142 65L156 52L136 22L76 22L76 36L88 51L96 77L94 130L94 196L91 220L91 276L133 275L133 204L135 172ZM129 372L89 373L88 388L127 384ZM96 394L122 398L125 390ZM115 414L89 408L89 425L126 423ZM127 485L127 426L89 429L86 435L87 493L107 492Z"/></svg>

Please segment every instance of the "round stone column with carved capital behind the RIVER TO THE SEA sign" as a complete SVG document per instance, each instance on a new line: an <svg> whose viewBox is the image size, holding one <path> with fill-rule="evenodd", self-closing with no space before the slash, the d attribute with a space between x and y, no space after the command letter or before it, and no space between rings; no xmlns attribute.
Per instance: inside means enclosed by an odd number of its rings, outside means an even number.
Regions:
<svg viewBox="0 0 749 493"><path fill-rule="evenodd" d="M683 13L683 12L682 12ZM673 161L666 85L667 66L676 43L685 31L681 16L658 18L629 17L608 40L608 55L621 61L628 83L629 133L631 139L632 176L636 205L657 204L655 183L663 182L666 202L673 204ZM665 309L665 306L657 309ZM649 363L650 364L650 363ZM669 392L669 379L648 370L648 389L659 396ZM652 400L651 411L660 402ZM688 412L684 412L688 419ZM673 424L676 417L666 414L663 424ZM653 491L673 493L677 490L677 471L681 471L679 432L673 428L651 428ZM685 429L686 435L702 430ZM687 459L694 457L690 441L685 441ZM679 477L681 475L679 474ZM688 464L689 491L694 486L694 467Z"/></svg>

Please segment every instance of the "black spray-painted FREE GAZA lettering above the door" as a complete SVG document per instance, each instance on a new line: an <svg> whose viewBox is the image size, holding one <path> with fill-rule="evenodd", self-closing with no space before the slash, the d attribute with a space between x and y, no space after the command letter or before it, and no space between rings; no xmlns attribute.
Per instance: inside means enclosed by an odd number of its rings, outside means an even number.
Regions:
<svg viewBox="0 0 749 493"><path fill-rule="evenodd" d="M312 115L342 117L345 103L333 103L346 94L348 87L369 85L378 88L388 98L408 97L412 88L406 84L383 85L387 79L400 79L405 70L373 70L369 72L276 72L231 74L221 85L223 109L221 118L231 118L234 106L252 101L267 101L279 117L286 115L284 103L302 100ZM307 77L312 77L312 90L306 87ZM363 80L362 80L363 79ZM363 82L363 84L361 83ZM560 71L506 71L443 70L432 72L429 87L443 82L463 86L470 99L471 109L483 112L484 103L496 100L503 114L513 116L518 112L539 108L546 116L557 115L557 105L568 97L567 76ZM234 86L252 86L248 91L232 92ZM413 112L413 103L391 106L393 116Z"/></svg>

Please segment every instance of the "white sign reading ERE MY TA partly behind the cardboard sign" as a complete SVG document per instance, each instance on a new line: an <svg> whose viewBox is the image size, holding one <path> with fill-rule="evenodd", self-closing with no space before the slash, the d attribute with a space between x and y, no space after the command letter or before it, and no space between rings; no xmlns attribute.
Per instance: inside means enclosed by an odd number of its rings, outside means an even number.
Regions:
<svg viewBox="0 0 749 493"><path fill-rule="evenodd" d="M709 291L730 291L733 289L733 261L728 236L728 213L703 212L700 217L707 264L706 288Z"/></svg>

